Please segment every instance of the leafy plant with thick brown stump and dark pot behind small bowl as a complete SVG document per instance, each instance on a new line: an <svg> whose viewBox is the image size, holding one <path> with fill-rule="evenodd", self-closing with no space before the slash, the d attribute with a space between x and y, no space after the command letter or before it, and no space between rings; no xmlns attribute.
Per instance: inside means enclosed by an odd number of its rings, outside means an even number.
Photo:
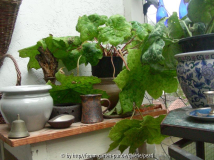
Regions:
<svg viewBox="0 0 214 160"><path fill-rule="evenodd" d="M34 46L19 50L20 57L30 57L28 69L42 68L44 79L52 86L50 94L54 100L54 105L60 107L54 107L51 117L56 116L56 113L67 113L75 115L75 120L80 121L80 95L100 93L103 97L107 97L104 91L93 89L93 84L100 83L97 77L74 76L74 74L67 76L62 69L58 71L59 61L62 61L68 70L76 68L78 58L70 57L69 53L80 47L80 45L81 41L77 36L59 38L50 35L38 41ZM86 52L94 49L93 47L88 47L87 44L82 48L85 49ZM61 85L56 85L56 80L59 81Z"/></svg>

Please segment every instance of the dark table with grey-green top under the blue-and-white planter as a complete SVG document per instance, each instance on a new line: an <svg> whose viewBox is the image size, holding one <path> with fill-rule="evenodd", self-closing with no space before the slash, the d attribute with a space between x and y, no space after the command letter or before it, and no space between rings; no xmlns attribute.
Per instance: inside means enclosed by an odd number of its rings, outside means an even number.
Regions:
<svg viewBox="0 0 214 160"><path fill-rule="evenodd" d="M161 123L161 133L195 141L196 155L205 159L204 142L214 143L214 122L189 117L186 112L191 109L184 107L169 112Z"/></svg>

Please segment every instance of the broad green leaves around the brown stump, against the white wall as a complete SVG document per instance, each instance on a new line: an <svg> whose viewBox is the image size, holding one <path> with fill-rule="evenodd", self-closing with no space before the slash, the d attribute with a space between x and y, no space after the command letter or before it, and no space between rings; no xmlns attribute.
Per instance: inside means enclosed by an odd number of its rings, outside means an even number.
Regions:
<svg viewBox="0 0 214 160"><path fill-rule="evenodd" d="M42 47L44 50L48 49L55 58L63 62L68 70L71 70L76 68L77 61L75 61L75 63L71 62L78 59L78 57L75 57L76 54L72 55L71 50L78 48L81 43L82 42L78 36L53 37L52 35L50 35L49 37L43 38L42 40L38 41L35 46L19 50L19 53L20 57L22 58L30 58L30 61L28 62L28 69L39 69L41 67L39 66L39 63L37 62L35 56L37 54L40 54L38 49L39 47ZM82 63L85 63L85 61L83 61Z"/></svg>

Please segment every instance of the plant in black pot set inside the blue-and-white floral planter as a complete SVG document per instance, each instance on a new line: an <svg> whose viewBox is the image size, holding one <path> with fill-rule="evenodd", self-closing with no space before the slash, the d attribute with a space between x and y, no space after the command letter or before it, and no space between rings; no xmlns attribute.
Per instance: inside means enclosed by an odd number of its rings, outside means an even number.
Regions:
<svg viewBox="0 0 214 160"><path fill-rule="evenodd" d="M204 92L214 89L213 1L191 0L187 17L180 20L188 34L179 41L183 53L176 55L178 80L193 108L208 107Z"/></svg>

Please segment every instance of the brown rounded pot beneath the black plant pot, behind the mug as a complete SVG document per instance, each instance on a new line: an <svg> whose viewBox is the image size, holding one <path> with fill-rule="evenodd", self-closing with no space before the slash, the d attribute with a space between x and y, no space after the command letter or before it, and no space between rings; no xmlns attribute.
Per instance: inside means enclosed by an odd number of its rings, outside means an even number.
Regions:
<svg viewBox="0 0 214 160"><path fill-rule="evenodd" d="M119 100L119 93L120 93L120 89L117 87L117 85L115 84L115 82L113 81L113 78L100 78L101 79L101 83L100 84L95 84L93 86L94 89L101 89L106 91L106 93L109 95L109 100L111 102L110 105L110 110L113 109L118 100ZM107 102L103 102L102 104L103 106L108 106Z"/></svg>

